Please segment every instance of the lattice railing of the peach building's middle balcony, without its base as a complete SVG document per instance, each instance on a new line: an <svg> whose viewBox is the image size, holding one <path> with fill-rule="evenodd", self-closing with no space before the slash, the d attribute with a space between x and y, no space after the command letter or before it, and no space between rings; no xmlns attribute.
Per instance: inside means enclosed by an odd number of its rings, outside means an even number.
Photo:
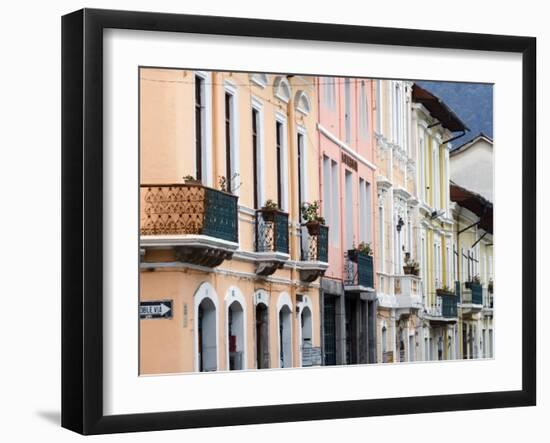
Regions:
<svg viewBox="0 0 550 443"><path fill-rule="evenodd" d="M288 254L288 214L277 210L256 211L256 251Z"/></svg>

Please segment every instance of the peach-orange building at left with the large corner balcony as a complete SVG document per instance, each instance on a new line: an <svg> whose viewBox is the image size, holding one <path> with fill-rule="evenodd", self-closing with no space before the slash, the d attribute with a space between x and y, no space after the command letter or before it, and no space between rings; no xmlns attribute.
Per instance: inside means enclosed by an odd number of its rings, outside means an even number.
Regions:
<svg viewBox="0 0 550 443"><path fill-rule="evenodd" d="M315 80L143 68L140 101L141 374L321 364Z"/></svg>

